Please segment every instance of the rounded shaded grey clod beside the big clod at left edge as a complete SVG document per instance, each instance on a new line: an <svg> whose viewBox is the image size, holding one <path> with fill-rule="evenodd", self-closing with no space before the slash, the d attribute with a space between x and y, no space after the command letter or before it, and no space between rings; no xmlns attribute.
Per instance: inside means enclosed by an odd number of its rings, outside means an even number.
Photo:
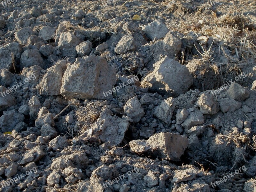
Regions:
<svg viewBox="0 0 256 192"><path fill-rule="evenodd" d="M27 49L20 57L20 68L23 69L24 67L31 67L34 65L43 67L43 62L43 58L37 49Z"/></svg>

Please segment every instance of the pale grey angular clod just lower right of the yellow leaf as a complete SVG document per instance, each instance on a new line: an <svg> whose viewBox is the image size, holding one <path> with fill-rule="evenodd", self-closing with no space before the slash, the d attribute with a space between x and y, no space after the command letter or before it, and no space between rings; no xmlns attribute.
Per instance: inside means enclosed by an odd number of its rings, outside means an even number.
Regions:
<svg viewBox="0 0 256 192"><path fill-rule="evenodd" d="M156 40L164 38L165 35L169 32L169 29L161 21L155 20L148 25L141 26L142 31L146 33L151 41L155 38Z"/></svg>

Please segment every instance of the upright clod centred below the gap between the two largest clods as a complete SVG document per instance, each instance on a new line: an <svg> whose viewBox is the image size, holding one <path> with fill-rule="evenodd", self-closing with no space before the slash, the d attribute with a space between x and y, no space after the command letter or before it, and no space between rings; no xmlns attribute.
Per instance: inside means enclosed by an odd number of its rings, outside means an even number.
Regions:
<svg viewBox="0 0 256 192"><path fill-rule="evenodd" d="M141 117L144 116L144 110L137 96L134 96L126 102L124 105L124 113L126 116L131 117L135 123L139 122Z"/></svg>

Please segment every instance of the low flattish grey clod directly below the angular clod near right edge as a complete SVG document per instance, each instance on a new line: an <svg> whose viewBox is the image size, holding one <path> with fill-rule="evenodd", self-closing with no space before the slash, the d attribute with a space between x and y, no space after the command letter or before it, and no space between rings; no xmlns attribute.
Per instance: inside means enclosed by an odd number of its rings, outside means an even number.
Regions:
<svg viewBox="0 0 256 192"><path fill-rule="evenodd" d="M218 99L218 103L220 104L220 110L222 113L230 112L233 113L235 110L239 109L242 103L235 101L234 99Z"/></svg>

